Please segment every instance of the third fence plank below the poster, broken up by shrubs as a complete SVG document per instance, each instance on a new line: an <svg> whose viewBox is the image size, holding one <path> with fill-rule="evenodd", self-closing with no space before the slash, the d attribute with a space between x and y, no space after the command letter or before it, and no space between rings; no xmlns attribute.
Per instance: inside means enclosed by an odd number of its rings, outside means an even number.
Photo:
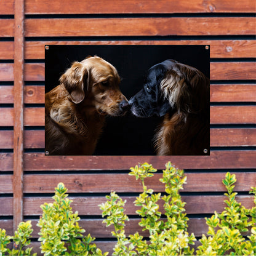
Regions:
<svg viewBox="0 0 256 256"><path fill-rule="evenodd" d="M74 198L70 197L73 202L71 207L73 212L78 211L79 215L102 215L102 210L98 207L106 201L105 197L87 197L87 198ZM127 215L137 215L136 210L139 207L134 206L135 196L122 196L123 200L126 200L126 214ZM186 202L185 209L186 214L214 214L216 212L222 212L226 206L224 200L226 196L182 196L182 201ZM254 207L253 196L236 196L236 200L241 202L241 204L247 208ZM44 202L52 202L51 198L37 197L37 198L24 198L24 215L28 216L38 216L42 215L41 204ZM163 210L163 201L159 201L159 210Z"/></svg>

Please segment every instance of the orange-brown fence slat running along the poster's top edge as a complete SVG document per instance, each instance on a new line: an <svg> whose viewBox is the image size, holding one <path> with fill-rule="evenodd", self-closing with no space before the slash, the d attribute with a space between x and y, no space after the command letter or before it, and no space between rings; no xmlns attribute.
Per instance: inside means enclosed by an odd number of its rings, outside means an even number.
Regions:
<svg viewBox="0 0 256 256"><path fill-rule="evenodd" d="M2 43L6 43L6 42L2 42ZM210 58L255 58L256 57L255 40L180 40L180 41L170 40L170 41L27 41L25 42L25 58L34 59L34 60L44 59L44 46L46 44L49 44L49 45L95 45L95 44L97 45L104 45L104 44L107 44L107 45L125 45L125 44L129 44L129 45L140 45L140 44L210 45ZM0 44L0 47L1 47L1 44ZM0 48L0 51L1 51L1 48Z"/></svg>

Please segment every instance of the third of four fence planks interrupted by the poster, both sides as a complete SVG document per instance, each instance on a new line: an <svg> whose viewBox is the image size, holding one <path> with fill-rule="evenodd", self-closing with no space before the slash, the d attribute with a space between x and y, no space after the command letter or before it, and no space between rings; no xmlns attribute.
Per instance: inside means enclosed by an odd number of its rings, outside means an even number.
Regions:
<svg viewBox="0 0 256 256"><path fill-rule="evenodd" d="M256 106L210 106L210 124L255 124ZM2 108L0 126L14 126L13 108ZM44 126L44 108L25 108L25 126Z"/></svg>

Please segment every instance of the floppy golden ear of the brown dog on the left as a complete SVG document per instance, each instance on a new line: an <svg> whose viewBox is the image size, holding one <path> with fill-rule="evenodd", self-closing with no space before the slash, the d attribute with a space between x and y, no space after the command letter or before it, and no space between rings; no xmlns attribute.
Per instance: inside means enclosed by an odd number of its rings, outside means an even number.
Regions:
<svg viewBox="0 0 256 256"><path fill-rule="evenodd" d="M65 89L70 94L72 102L78 104L84 100L84 82L87 83L88 77L89 74L87 69L84 68L84 65L80 62L74 62L71 68L66 70L60 77L60 83L65 86Z"/></svg>

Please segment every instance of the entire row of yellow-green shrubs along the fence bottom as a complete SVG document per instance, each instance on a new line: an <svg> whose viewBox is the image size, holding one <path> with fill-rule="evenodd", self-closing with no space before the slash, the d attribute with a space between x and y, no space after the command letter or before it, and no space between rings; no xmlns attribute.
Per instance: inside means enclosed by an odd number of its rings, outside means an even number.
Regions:
<svg viewBox="0 0 256 256"><path fill-rule="evenodd" d="M145 185L145 178L150 178L157 170L151 164L142 164L132 167L129 175L135 176L142 182L143 193L134 201L140 207L136 212L141 217L139 225L142 231L147 230L149 238L143 238L138 232L128 237L125 234L126 222L129 218L124 214L126 201L119 198L118 194L111 192L106 196L107 201L100 204L102 216L106 217L103 223L113 225L112 235L117 239L113 255L256 255L256 206L246 209L236 201L234 183L236 176L229 172L223 184L226 187L226 207L221 214L217 212L206 218L209 226L207 236L199 239L200 246L194 252L196 238L188 234L188 217L185 214L185 202L182 202L179 191L186 183L183 170L178 170L170 162L166 164L160 181L165 185L164 196L154 193ZM108 255L92 244L95 238L85 232L78 222L78 212L73 213L70 206L71 200L66 194L67 189L63 183L55 188L53 203L41 206L42 217L38 222L41 228L39 241L41 252L44 255ZM250 193L254 194L256 204L256 188ZM164 201L164 212L159 211L159 202ZM245 233L250 231L249 236ZM0 256L2 255L33 255L30 237L33 232L31 222L22 222L18 225L14 236L7 236L6 230L0 228ZM246 238L245 238L246 237ZM14 241L15 249L8 249L7 245Z"/></svg>

